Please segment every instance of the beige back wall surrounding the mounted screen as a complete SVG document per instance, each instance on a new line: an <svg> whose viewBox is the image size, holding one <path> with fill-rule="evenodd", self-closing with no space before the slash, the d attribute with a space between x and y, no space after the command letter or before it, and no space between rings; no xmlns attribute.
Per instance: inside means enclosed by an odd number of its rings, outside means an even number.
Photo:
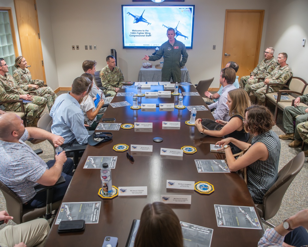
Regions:
<svg viewBox="0 0 308 247"><path fill-rule="evenodd" d="M121 4L134 4L134 2L131 0L53 0L50 1L48 7L48 1L38 0L38 2L39 13L42 11L41 6L44 6L44 9L48 11L46 14L50 13L59 86L71 85L74 78L83 72L81 64L85 59L96 60L98 62L96 68L103 68L106 65L105 57L110 55L111 48L115 48L117 51L118 65L124 74L124 79L137 81L138 72L142 65L141 58L145 54L152 54L154 49L122 48ZM189 57L186 64L193 83L214 76L216 79L212 86L218 87L225 10L265 9L266 23L265 2L265 0L261 0L251 3L246 0L238 0L234 4L234 2L227 0L186 0L181 3L196 5L193 49L188 50ZM146 4L154 5L155 3L146 2ZM40 25L41 18L45 18L43 12L42 15L39 15ZM40 29L42 32L41 26ZM263 35L261 47L264 46L264 39ZM45 37L42 33L42 42L44 40ZM86 51L84 49L86 44L97 45L97 50ZM214 44L216 50L212 49ZM73 51L72 45L79 45L80 50ZM44 56L45 64L46 59Z"/></svg>

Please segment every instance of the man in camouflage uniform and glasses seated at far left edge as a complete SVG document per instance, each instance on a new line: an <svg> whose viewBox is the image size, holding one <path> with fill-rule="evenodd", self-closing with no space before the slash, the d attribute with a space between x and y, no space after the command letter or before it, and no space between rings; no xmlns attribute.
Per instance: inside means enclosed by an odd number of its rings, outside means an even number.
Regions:
<svg viewBox="0 0 308 247"><path fill-rule="evenodd" d="M45 109L47 100L39 96L31 96L22 90L8 74L8 65L3 58L0 58L0 101L22 99L30 100L33 103L24 104L26 121L28 126L36 127L39 116ZM21 111L20 103L6 103L4 107L7 111Z"/></svg>

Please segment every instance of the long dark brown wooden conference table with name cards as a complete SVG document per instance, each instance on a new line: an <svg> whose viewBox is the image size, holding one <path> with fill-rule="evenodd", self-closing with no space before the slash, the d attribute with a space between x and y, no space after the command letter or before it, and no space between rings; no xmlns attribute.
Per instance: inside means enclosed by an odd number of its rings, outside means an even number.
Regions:
<svg viewBox="0 0 308 247"><path fill-rule="evenodd" d="M151 86L151 90L163 90L163 86ZM120 89L120 92L136 92L136 89ZM195 92L194 86L179 87L179 92ZM115 97L113 102L128 101L132 97ZM141 103L175 103L177 96L169 98L138 98ZM184 96L184 105L205 105L200 96ZM213 229L211 247L221 246L257 246L263 230L217 227L214 204L254 207L253 200L242 178L236 173L198 173L194 159L221 159L210 153L210 144L219 138L201 135L194 126L185 125L190 112L187 109L155 112L131 110L129 106L107 108L104 117L115 117L116 123L152 122L151 132L136 132L135 129L112 131L111 141L88 145L74 177L63 198L63 202L101 201L98 224L86 224L84 232L57 232L58 225L53 224L46 246L102 246L106 236L118 237L118 247L125 246L133 219L140 219L147 203L160 201L160 195L191 195L191 205L169 204L179 220ZM212 118L210 111L197 111L197 118ZM180 130L162 129L162 121L180 121ZM154 137L162 137L156 143ZM153 145L153 152L131 153L135 159L131 163L126 152L112 150L115 144ZM185 145L197 148L194 154L183 157L162 158L160 148L180 149ZM83 169L88 156L118 156L115 169L112 169L112 182L119 186L148 186L147 196L118 196L114 199L101 199L97 193L101 187L100 169ZM166 189L166 180L206 181L213 184L215 191L210 195L200 195L193 190ZM258 216L259 217L259 216ZM259 218L260 222L260 218ZM159 237L159 236L157 236Z"/></svg>

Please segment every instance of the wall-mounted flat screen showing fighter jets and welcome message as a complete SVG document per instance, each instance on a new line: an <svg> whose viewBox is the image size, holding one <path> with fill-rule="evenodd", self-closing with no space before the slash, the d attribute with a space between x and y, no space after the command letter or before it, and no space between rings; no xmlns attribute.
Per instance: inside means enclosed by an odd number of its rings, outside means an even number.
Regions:
<svg viewBox="0 0 308 247"><path fill-rule="evenodd" d="M167 29L176 40L193 48L195 5L122 5L123 48L156 48L168 40Z"/></svg>

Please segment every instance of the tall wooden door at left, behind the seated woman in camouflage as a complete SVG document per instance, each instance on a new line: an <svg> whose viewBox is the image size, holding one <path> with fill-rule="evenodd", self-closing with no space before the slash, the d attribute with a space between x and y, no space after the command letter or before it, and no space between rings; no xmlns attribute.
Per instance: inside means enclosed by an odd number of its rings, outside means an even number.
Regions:
<svg viewBox="0 0 308 247"><path fill-rule="evenodd" d="M22 56L26 58L32 79L46 82L39 20L35 0L14 0Z"/></svg>

